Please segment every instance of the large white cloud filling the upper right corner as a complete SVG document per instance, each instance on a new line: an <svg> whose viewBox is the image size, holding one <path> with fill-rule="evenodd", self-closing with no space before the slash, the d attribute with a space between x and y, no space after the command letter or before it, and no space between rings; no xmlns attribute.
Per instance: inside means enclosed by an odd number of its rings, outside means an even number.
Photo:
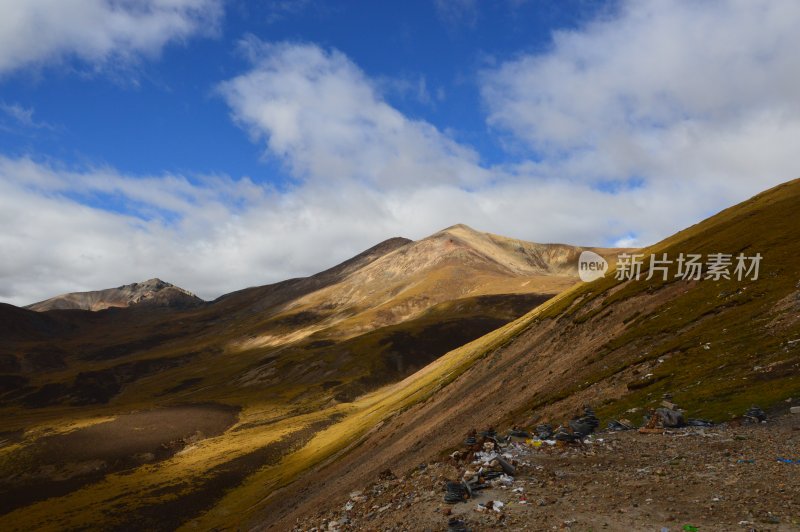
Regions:
<svg viewBox="0 0 800 532"><path fill-rule="evenodd" d="M780 0L624 2L485 71L488 122L540 172L741 199L799 173L798 23Z"/></svg>

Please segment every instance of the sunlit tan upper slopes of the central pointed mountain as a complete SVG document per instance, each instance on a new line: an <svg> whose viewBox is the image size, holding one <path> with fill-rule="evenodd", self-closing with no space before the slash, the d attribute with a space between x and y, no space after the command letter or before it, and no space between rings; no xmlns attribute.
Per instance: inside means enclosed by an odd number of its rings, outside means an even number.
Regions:
<svg viewBox="0 0 800 532"><path fill-rule="evenodd" d="M611 262L619 251L536 244L454 225L419 241L395 242L393 249L349 268L282 310L312 313L313 329L343 321L343 330L353 333L399 323L464 297L555 295L577 281L578 256L585 249Z"/></svg>

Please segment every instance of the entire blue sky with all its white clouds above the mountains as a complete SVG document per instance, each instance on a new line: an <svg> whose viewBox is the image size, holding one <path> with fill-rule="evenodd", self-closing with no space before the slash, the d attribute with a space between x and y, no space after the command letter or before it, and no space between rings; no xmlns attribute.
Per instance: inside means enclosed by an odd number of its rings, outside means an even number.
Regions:
<svg viewBox="0 0 800 532"><path fill-rule="evenodd" d="M445 226L642 245L797 177L794 2L0 0L0 301Z"/></svg>

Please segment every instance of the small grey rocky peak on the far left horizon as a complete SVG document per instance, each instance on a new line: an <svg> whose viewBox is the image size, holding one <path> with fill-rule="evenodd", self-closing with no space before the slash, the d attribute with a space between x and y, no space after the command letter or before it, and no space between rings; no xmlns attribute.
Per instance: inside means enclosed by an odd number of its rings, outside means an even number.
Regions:
<svg viewBox="0 0 800 532"><path fill-rule="evenodd" d="M188 308L202 305L203 303L202 299L183 288L166 283L161 279L150 279L141 283L126 284L118 288L62 294L33 303L25 308L37 312L55 309L97 311L111 307L129 307L132 305Z"/></svg>

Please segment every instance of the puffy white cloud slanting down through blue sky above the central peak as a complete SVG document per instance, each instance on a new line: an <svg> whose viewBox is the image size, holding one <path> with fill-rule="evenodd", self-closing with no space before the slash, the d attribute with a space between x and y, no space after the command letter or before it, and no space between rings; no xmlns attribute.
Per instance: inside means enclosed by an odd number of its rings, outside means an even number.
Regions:
<svg viewBox="0 0 800 532"><path fill-rule="evenodd" d="M234 119L298 178L382 189L490 178L473 150L388 105L344 54L255 39L245 46L253 68L219 91Z"/></svg>

